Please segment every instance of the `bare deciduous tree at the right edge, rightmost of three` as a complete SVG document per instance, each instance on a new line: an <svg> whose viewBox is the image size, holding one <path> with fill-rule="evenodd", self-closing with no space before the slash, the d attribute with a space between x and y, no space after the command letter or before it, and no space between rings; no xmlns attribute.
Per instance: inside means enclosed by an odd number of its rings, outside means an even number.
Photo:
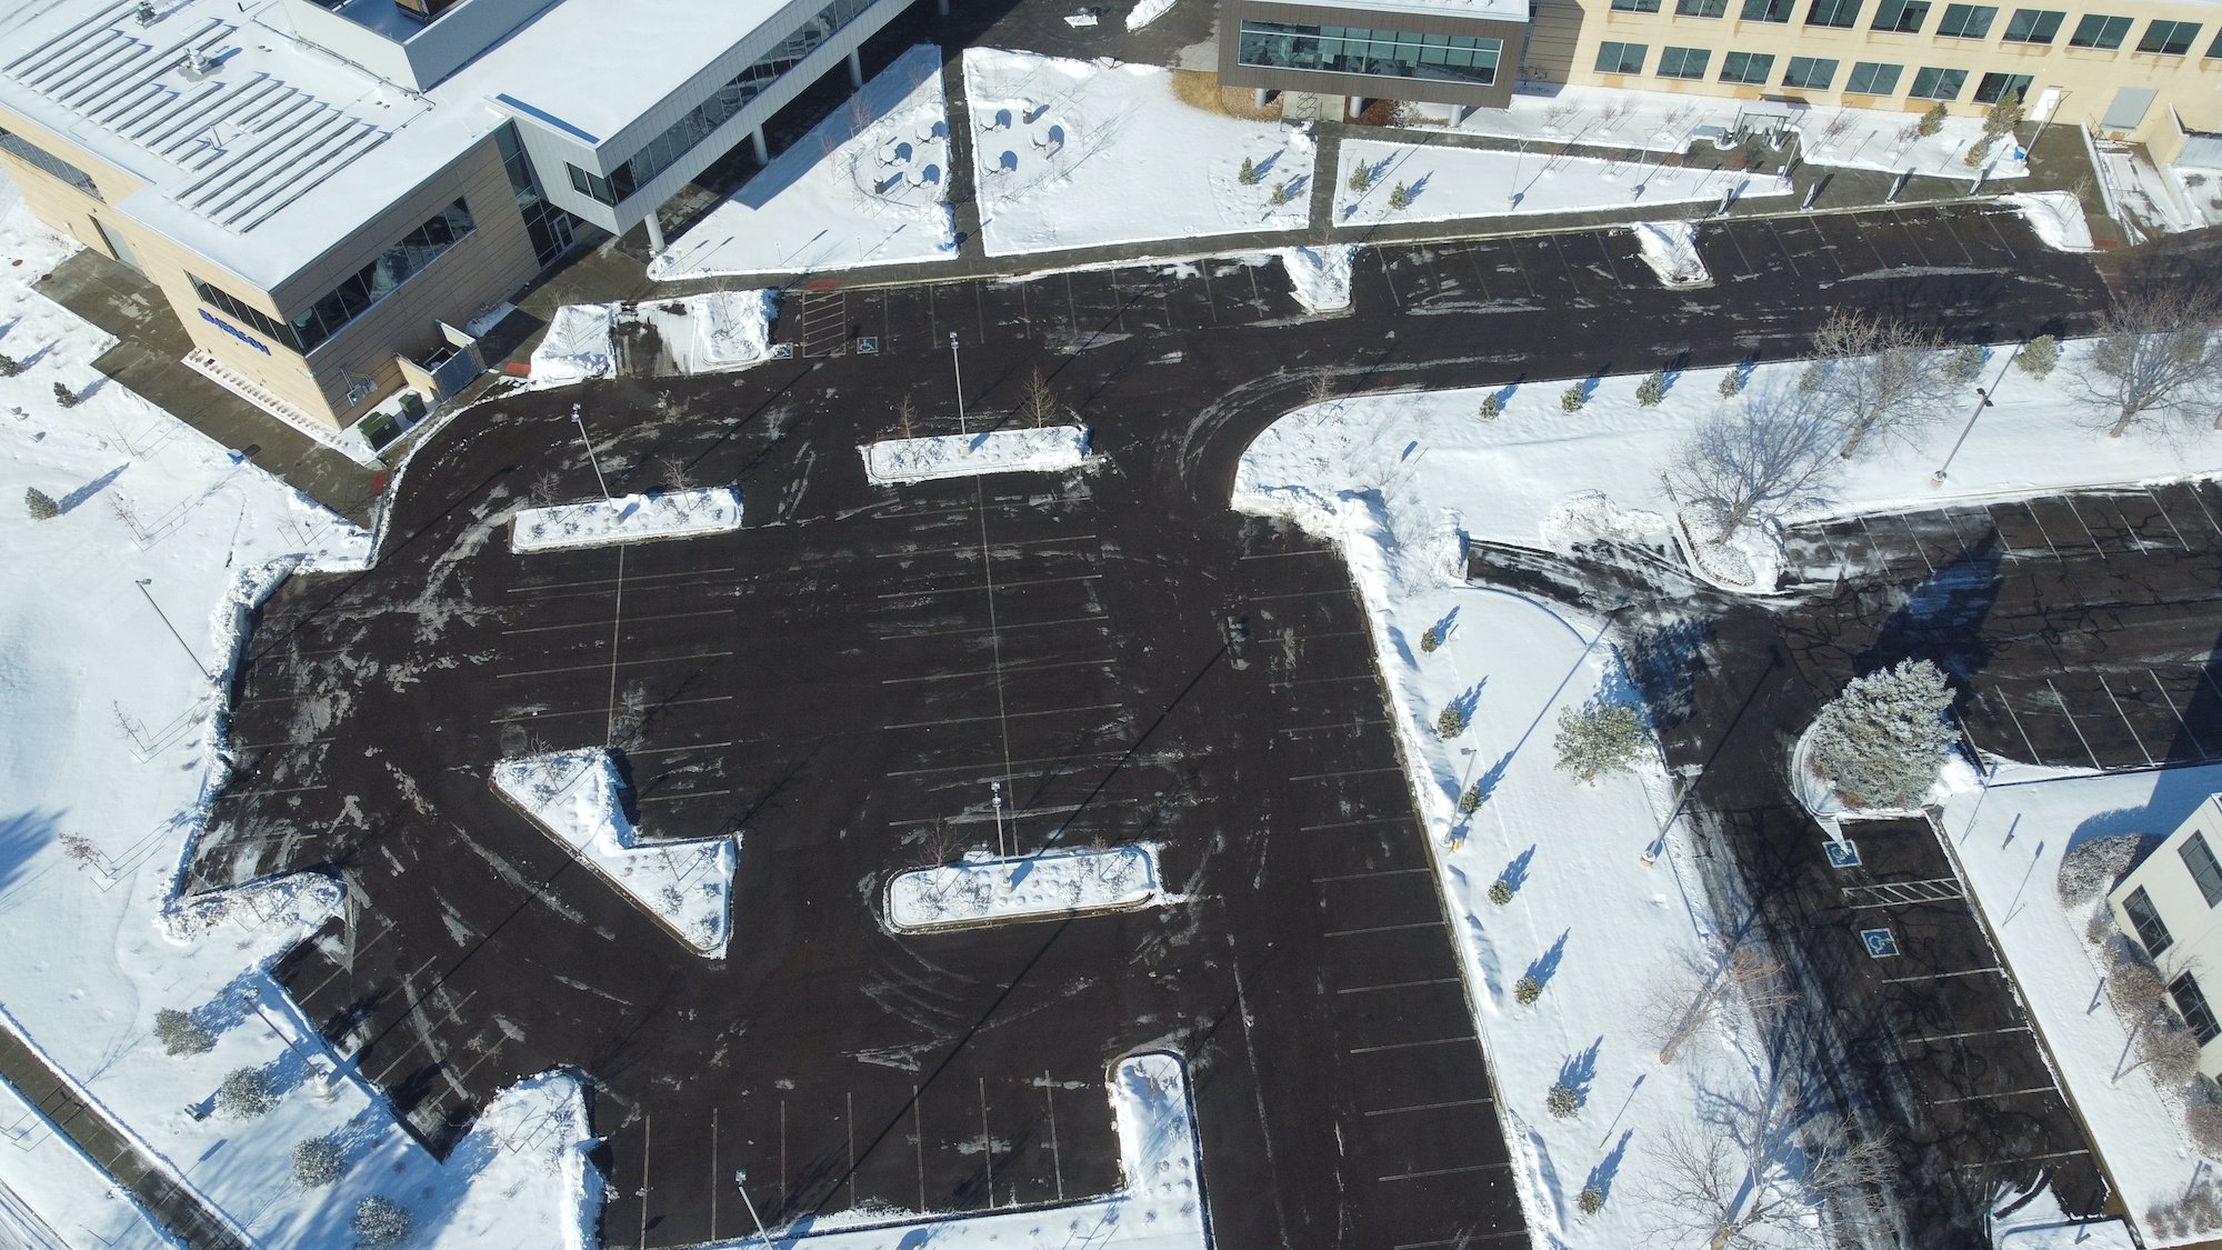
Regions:
<svg viewBox="0 0 2222 1250"><path fill-rule="evenodd" d="M2100 316L2098 343L2075 369L2084 394L2113 409L2106 438L2140 418L2178 416L2222 383L2213 296L2178 282L2133 285Z"/></svg>

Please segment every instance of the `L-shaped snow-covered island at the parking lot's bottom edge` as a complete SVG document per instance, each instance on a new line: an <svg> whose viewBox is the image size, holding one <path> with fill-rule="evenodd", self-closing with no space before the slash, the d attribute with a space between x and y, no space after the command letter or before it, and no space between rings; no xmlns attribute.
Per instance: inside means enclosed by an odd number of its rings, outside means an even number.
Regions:
<svg viewBox="0 0 2222 1250"><path fill-rule="evenodd" d="M875 1221L773 1234L775 1250L1211 1250L1189 1070L1173 1054L1142 1052L1111 1068L1118 1192L1082 1203L991 1214ZM1231 1194L1229 1201L1242 1201ZM753 1250L755 1237L724 1241Z"/></svg>

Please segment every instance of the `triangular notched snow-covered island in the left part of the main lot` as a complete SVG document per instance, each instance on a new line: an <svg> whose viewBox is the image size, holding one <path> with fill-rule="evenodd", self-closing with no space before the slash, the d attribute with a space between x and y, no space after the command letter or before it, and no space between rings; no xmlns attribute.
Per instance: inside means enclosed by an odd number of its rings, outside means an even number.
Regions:
<svg viewBox="0 0 2222 1250"><path fill-rule="evenodd" d="M724 959L738 839L642 843L609 747L504 758L493 787L682 943Z"/></svg>

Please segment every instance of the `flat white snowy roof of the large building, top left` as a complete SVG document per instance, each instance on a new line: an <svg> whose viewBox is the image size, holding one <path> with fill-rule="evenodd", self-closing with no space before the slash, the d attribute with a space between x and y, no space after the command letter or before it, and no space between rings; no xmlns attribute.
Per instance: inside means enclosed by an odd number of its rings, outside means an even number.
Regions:
<svg viewBox="0 0 2222 1250"><path fill-rule="evenodd" d="M558 0L416 93L296 36L278 0L167 0L149 24L136 0L13 4L0 102L144 180L127 216L267 289L500 127L498 96L607 140L780 9Z"/></svg>

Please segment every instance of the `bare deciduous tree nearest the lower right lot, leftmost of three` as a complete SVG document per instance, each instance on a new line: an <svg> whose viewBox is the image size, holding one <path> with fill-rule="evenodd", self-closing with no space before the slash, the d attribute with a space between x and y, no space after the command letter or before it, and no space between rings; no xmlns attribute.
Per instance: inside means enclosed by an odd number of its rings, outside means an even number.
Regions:
<svg viewBox="0 0 2222 1250"><path fill-rule="evenodd" d="M1842 465L1838 434L1822 405L1778 385L1706 416L1675 454L1673 485L1713 509L1713 540L1726 543L1753 514L1820 498Z"/></svg>

